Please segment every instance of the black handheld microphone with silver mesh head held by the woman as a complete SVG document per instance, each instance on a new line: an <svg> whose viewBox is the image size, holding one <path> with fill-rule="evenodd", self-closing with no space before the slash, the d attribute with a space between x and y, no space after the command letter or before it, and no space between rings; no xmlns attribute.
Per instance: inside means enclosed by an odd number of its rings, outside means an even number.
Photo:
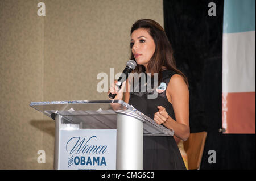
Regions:
<svg viewBox="0 0 256 181"><path fill-rule="evenodd" d="M121 74L121 76L119 77L119 79L117 80L117 83L115 83L115 86L118 87L118 91L121 89L122 87L122 83L127 79L128 77L128 73L130 73L132 70L135 69L136 67L136 62L134 60L129 60L126 64L126 68L123 70L123 73ZM110 99L114 99L115 96L117 94L109 94L109 98Z"/></svg>

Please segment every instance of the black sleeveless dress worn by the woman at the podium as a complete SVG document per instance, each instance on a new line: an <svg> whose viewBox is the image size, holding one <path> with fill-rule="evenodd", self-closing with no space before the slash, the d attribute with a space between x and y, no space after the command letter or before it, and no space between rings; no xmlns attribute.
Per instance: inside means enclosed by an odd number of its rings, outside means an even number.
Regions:
<svg viewBox="0 0 256 181"><path fill-rule="evenodd" d="M171 70L162 71L162 82L158 89L159 93L156 99L148 99L150 92L130 92L129 104L141 111L151 119L154 119L154 114L158 111L157 106L166 108L168 115L174 120L174 110L172 104L166 97L166 89L168 83L175 72ZM141 81L139 81L141 86ZM135 86L134 86L135 87ZM166 87L166 89L164 89ZM134 90L134 89L133 89ZM186 169L181 157L179 148L171 136L144 136L143 137L143 169L145 170L174 170Z"/></svg>

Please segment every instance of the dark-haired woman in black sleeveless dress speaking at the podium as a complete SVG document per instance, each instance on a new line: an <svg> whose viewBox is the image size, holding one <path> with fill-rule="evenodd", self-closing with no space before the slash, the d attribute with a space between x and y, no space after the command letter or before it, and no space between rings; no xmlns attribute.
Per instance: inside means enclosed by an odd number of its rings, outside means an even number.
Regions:
<svg viewBox="0 0 256 181"><path fill-rule="evenodd" d="M156 123L174 130L174 137L143 137L143 169L186 169L176 140L189 137L189 91L185 75L176 68L173 50L164 29L154 20L141 19L131 27L131 60L137 63L132 73L145 73L151 79L158 73L155 91L148 91L148 85L141 79L134 85L145 87L146 91L135 91L129 79L120 91L114 83L109 92L117 94L114 99L124 99ZM151 81L153 82L153 81ZM154 86L151 86L154 87ZM126 89L128 91L124 92ZM148 95L157 92L155 98Z"/></svg>

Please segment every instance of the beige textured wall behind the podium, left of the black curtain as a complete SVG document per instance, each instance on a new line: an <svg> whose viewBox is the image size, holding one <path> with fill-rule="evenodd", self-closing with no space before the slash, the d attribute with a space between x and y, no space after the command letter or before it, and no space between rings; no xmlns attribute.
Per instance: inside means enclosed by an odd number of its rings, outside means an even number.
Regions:
<svg viewBox="0 0 256 181"><path fill-rule="evenodd" d="M162 0L0 1L0 169L53 169L54 121L30 102L108 99L97 74L123 70L141 18L163 26Z"/></svg>

